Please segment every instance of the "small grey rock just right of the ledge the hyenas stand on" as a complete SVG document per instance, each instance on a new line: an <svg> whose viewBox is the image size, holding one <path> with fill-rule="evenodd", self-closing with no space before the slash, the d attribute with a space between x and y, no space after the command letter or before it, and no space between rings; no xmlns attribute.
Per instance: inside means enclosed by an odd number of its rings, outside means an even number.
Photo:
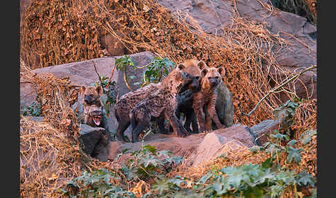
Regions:
<svg viewBox="0 0 336 198"><path fill-rule="evenodd" d="M274 130L279 129L279 125L279 120L263 120L261 123L250 127L250 129L256 135L256 141L259 145L263 145L268 141L265 134L270 134Z"/></svg>

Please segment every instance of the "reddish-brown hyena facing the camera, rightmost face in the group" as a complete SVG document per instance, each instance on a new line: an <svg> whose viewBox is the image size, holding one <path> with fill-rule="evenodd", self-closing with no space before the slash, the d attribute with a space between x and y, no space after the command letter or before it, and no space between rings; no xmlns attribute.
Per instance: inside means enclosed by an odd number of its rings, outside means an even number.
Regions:
<svg viewBox="0 0 336 198"><path fill-rule="evenodd" d="M223 66L218 68L205 68L201 71L202 81L200 91L194 94L192 107L200 126L200 132L211 129L212 120L216 127L225 128L216 113L216 96L218 85L222 83L225 75ZM204 113L205 111L205 113Z"/></svg>

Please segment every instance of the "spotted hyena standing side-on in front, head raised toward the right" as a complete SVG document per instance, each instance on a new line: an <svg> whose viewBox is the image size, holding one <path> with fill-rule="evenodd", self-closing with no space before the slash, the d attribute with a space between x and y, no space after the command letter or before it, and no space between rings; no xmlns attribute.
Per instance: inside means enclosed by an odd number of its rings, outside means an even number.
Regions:
<svg viewBox="0 0 336 198"><path fill-rule="evenodd" d="M133 142L138 141L139 134L149 127L153 120L165 117L177 136L187 136L189 133L176 118L176 95L183 87L194 80L194 76L183 71L185 65L178 64L176 69L162 80L156 91L138 103L130 113Z"/></svg>

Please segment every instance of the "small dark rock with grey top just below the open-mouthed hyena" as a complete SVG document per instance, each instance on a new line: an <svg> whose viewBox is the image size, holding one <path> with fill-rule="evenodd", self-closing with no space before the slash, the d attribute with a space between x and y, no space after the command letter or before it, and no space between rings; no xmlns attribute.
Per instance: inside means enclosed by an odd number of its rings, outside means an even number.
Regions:
<svg viewBox="0 0 336 198"><path fill-rule="evenodd" d="M106 137L105 129L101 127L91 127L90 125L82 124L80 126L80 141L83 151L93 156L100 161L107 161L109 142Z"/></svg>

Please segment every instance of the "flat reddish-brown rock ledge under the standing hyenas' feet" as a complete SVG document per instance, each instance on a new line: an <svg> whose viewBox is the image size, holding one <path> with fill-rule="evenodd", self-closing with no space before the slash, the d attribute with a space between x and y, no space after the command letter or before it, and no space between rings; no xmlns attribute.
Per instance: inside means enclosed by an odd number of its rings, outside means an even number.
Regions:
<svg viewBox="0 0 336 198"><path fill-rule="evenodd" d="M248 131L248 127L235 125L225 129L217 129L209 134L192 134L186 138L174 135L150 134L144 138L144 145L155 146L158 150L170 150L177 156L184 156L188 165L199 165L217 156L226 143L236 143L252 147L254 136ZM109 144L109 159L113 161L115 156L129 149L128 152L140 150L142 142L123 143L114 141Z"/></svg>

